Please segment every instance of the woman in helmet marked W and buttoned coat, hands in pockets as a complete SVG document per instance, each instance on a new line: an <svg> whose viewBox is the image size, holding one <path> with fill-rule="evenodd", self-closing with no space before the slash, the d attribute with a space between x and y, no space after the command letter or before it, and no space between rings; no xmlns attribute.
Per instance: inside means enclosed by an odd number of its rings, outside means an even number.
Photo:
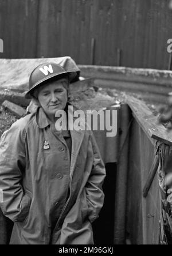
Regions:
<svg viewBox="0 0 172 256"><path fill-rule="evenodd" d="M56 63L36 67L26 97L40 106L2 135L0 205L14 221L10 244L93 244L105 168L91 131L55 126L75 76Z"/></svg>

